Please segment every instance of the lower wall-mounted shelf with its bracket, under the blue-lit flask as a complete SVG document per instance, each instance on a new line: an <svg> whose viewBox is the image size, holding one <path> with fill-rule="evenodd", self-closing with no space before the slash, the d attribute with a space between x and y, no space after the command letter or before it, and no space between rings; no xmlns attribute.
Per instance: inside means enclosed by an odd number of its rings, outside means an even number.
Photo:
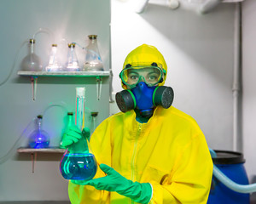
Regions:
<svg viewBox="0 0 256 204"><path fill-rule="evenodd" d="M42 149L33 149L27 147L20 147L17 152L19 154L23 153L30 153L32 159L32 173L34 173L35 169L35 161L37 160L38 153L57 153L57 154L64 154L66 150L60 149L58 147L49 147L49 148L42 148Z"/></svg>

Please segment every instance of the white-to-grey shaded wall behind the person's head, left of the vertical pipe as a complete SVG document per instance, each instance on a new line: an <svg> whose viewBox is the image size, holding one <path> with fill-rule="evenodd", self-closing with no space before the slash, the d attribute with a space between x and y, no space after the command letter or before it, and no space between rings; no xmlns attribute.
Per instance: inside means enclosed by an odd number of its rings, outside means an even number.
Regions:
<svg viewBox="0 0 256 204"><path fill-rule="evenodd" d="M112 1L113 90L121 90L119 71L126 55L148 43L160 50L168 65L166 85L175 93L173 105L193 116L209 147L232 150L233 3L197 14L198 5L171 10L166 1L149 1L136 14L137 1ZM113 108L113 110L115 109Z"/></svg>

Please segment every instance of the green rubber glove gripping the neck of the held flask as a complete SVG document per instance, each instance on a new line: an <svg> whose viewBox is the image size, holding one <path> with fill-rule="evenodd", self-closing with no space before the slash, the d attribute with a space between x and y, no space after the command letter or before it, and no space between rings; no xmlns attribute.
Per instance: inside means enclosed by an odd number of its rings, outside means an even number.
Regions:
<svg viewBox="0 0 256 204"><path fill-rule="evenodd" d="M68 148L70 153L89 152L86 139L90 139L90 129L88 127L84 127L81 132L79 127L72 126L63 133L61 146Z"/></svg>

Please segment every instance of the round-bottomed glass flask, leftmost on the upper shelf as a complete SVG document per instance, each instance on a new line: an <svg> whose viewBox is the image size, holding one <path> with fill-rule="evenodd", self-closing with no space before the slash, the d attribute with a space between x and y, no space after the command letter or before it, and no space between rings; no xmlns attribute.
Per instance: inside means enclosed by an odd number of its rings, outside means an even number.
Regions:
<svg viewBox="0 0 256 204"><path fill-rule="evenodd" d="M29 41L29 54L21 62L22 71L42 71L43 65L41 59L35 54L34 44L35 39L30 39Z"/></svg>

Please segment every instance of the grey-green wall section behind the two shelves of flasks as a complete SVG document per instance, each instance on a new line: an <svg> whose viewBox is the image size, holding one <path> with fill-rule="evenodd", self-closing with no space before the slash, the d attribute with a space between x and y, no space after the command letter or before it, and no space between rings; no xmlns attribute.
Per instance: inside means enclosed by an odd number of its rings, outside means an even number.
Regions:
<svg viewBox="0 0 256 204"><path fill-rule="evenodd" d="M102 82L102 98L96 99L96 78L39 77L36 101L32 101L29 77L19 77L20 62L27 54L26 40L47 28L55 35L63 54L67 42L87 44L87 36L98 35L104 67L109 69L110 2L106 0L8 0L0 2L0 83L8 77L14 63L15 70L8 82L0 86L0 157L4 156L19 139L26 126L38 114L44 114L44 129L51 137L51 146L57 146L65 124L67 111L75 111L75 88L86 88L85 126L91 127L91 111L98 111L96 124L108 113L108 77ZM36 35L36 52L47 64L51 43L49 33ZM79 60L84 53L76 47ZM17 58L15 60L15 56ZM61 155L38 154L35 173L32 173L30 155L15 154L17 146L26 145L33 122L18 140L9 160L0 164L0 201L64 201L67 181L59 173Z"/></svg>

